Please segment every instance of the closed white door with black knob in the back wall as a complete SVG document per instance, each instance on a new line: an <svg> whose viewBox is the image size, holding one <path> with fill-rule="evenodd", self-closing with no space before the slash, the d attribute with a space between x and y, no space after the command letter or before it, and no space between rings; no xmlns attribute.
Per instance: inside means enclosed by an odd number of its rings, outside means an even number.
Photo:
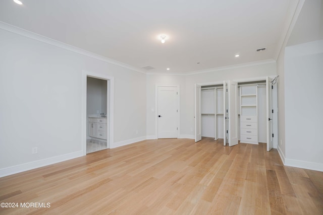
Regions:
<svg viewBox="0 0 323 215"><path fill-rule="evenodd" d="M158 138L177 138L178 95L177 87L158 86Z"/></svg>

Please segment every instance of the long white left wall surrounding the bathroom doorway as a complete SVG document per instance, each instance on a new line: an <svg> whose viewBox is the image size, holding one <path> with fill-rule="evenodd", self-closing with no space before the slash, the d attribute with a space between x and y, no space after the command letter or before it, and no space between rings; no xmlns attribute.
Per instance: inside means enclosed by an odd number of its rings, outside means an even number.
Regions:
<svg viewBox="0 0 323 215"><path fill-rule="evenodd" d="M144 74L1 28L0 47L0 176L82 155L82 70L114 77L114 142L145 137Z"/></svg>

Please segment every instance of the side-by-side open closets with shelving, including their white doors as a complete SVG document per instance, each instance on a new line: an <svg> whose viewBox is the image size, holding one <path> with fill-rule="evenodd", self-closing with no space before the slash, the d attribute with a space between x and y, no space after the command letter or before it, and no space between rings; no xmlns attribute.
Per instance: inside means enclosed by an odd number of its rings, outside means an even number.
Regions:
<svg viewBox="0 0 323 215"><path fill-rule="evenodd" d="M275 78L277 79L277 78ZM274 80L275 80L274 79ZM223 138L223 144L239 142L277 148L277 87L272 78L224 81L195 85L195 141Z"/></svg>

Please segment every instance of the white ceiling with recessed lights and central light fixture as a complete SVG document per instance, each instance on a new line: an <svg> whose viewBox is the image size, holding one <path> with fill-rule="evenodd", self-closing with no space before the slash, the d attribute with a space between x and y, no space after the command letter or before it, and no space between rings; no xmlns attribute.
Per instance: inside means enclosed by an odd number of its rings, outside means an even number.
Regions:
<svg viewBox="0 0 323 215"><path fill-rule="evenodd" d="M0 21L149 73L277 58L298 0L1 0ZM168 36L162 44L158 36ZM266 51L255 50L266 47ZM236 58L235 54L240 57ZM197 64L197 62L200 62ZM150 65L154 69L141 67ZM171 69L166 70L167 67Z"/></svg>

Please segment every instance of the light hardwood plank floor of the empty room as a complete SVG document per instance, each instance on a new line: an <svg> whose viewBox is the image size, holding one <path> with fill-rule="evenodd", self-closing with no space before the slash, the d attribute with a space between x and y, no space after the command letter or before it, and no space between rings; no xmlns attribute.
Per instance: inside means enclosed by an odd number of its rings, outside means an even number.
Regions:
<svg viewBox="0 0 323 215"><path fill-rule="evenodd" d="M0 178L1 214L323 214L323 172L266 145L145 140Z"/></svg>

